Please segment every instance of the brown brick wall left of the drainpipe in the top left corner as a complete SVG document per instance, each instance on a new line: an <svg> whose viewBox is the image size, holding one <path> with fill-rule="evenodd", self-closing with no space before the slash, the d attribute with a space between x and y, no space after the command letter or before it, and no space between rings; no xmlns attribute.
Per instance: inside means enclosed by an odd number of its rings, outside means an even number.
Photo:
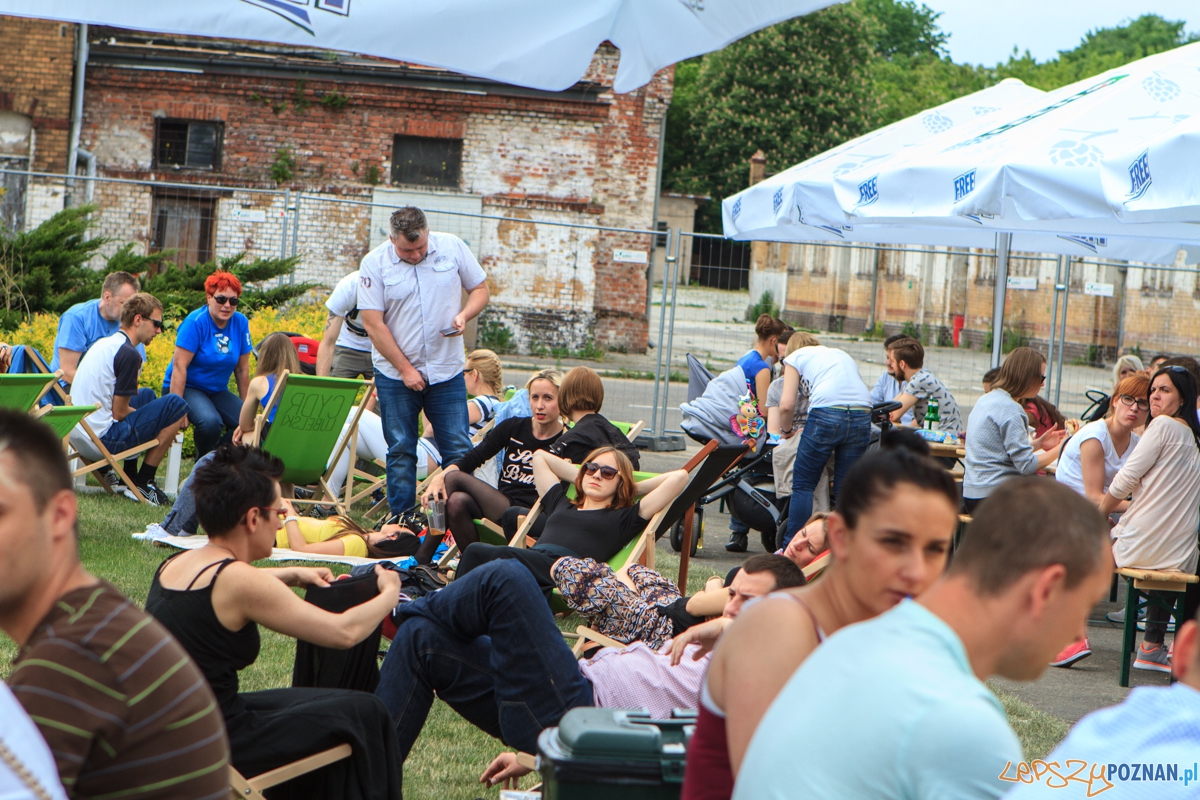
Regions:
<svg viewBox="0 0 1200 800"><path fill-rule="evenodd" d="M37 172L67 167L74 46L74 25L0 17L0 110L31 118Z"/></svg>

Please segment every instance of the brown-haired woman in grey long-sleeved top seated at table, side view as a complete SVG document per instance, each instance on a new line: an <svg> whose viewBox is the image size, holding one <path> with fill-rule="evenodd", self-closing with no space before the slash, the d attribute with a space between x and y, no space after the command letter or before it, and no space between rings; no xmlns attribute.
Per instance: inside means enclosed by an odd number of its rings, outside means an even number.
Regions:
<svg viewBox="0 0 1200 800"><path fill-rule="evenodd" d="M1045 368L1040 353L1016 348L1004 359L991 390L971 409L962 476L962 507L967 513L1009 477L1033 475L1057 457L1066 431L1055 426L1031 440L1028 417L1016 402L1042 391Z"/></svg>

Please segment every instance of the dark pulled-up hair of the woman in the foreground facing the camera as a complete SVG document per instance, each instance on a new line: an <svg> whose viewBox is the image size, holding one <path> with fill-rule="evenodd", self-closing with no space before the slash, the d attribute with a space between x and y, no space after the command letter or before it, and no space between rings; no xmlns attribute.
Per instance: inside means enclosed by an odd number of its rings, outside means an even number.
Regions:
<svg viewBox="0 0 1200 800"><path fill-rule="evenodd" d="M854 529L859 516L890 497L899 483L941 494L958 509L959 488L954 477L929 452L929 443L914 432L889 428L880 439L880 449L850 468L838 498L838 513Z"/></svg>

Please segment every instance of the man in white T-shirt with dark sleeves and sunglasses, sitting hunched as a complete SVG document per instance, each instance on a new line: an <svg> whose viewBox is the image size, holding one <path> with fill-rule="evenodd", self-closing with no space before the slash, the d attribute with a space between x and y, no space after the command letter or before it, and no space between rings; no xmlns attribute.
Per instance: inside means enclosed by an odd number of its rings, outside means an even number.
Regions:
<svg viewBox="0 0 1200 800"><path fill-rule="evenodd" d="M146 451L142 469L131 471L130 462L125 468L138 491L152 505L168 501L155 483L155 473L175 434L187 425L187 402L179 395L166 395L136 409L132 404L138 395L138 373L142 371L137 347L149 344L160 332L162 303L154 295L133 295L121 308L120 330L91 345L79 362L71 385L71 399L76 405L100 405L86 420L110 453L158 440ZM114 488L119 486L110 485ZM126 497L137 499L128 488L124 492Z"/></svg>

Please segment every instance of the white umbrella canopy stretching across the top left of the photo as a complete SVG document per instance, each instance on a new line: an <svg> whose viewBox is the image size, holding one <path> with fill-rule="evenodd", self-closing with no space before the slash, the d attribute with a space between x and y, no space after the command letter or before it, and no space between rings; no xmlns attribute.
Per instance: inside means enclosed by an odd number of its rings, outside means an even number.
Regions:
<svg viewBox="0 0 1200 800"><path fill-rule="evenodd" d="M614 89L841 0L0 0L0 14L364 53L560 91L596 47L620 48Z"/></svg>

